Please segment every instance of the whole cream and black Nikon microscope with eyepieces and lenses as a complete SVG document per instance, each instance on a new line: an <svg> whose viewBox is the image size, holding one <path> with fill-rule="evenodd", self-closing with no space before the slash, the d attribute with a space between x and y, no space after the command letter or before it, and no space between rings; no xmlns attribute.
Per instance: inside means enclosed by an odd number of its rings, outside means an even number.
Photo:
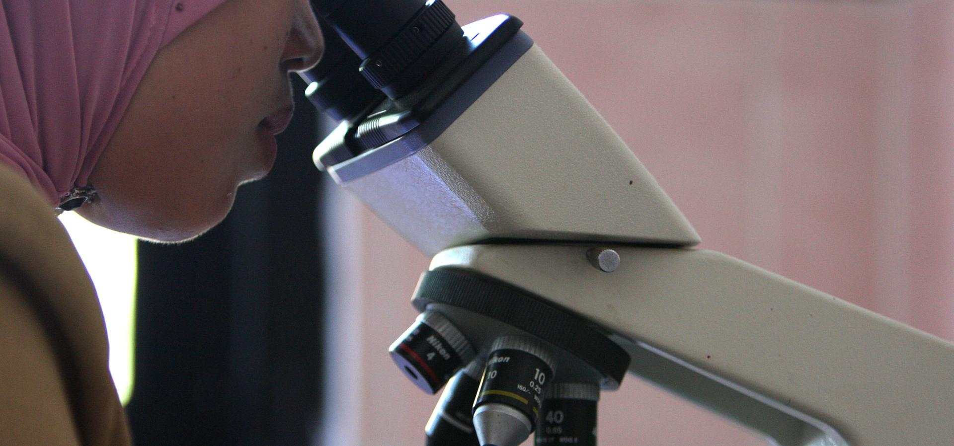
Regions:
<svg viewBox="0 0 954 446"><path fill-rule="evenodd" d="M434 446L596 444L637 375L782 446L954 444L954 344L722 253L513 16L319 0L314 160L433 256L396 373Z"/></svg>

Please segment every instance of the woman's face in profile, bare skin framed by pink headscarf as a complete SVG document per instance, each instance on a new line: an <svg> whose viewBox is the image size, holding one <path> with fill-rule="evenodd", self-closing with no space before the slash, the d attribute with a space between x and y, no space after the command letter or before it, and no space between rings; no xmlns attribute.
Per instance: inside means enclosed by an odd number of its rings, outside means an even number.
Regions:
<svg viewBox="0 0 954 446"><path fill-rule="evenodd" d="M291 116L288 73L315 65L322 45L308 0L225 1L158 52L80 213L161 241L218 224L239 185L271 169Z"/></svg>

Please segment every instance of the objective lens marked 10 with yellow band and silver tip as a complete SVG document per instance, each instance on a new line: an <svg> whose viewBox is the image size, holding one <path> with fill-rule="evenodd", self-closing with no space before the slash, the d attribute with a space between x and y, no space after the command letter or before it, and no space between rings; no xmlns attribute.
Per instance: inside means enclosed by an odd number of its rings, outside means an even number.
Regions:
<svg viewBox="0 0 954 446"><path fill-rule="evenodd" d="M553 361L543 343L522 336L494 341L474 401L474 428L482 445L517 446L536 424Z"/></svg>

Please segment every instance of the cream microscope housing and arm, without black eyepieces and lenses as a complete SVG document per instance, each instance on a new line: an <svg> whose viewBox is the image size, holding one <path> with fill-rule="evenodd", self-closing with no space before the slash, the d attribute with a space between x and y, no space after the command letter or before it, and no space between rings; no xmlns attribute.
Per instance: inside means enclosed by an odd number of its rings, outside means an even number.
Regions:
<svg viewBox="0 0 954 446"><path fill-rule="evenodd" d="M439 125L355 156L329 157L333 134L316 162L433 255L431 271L582 316L633 375L775 444L954 445L954 344L693 249L690 223L522 31L481 70ZM594 248L618 267L598 268Z"/></svg>

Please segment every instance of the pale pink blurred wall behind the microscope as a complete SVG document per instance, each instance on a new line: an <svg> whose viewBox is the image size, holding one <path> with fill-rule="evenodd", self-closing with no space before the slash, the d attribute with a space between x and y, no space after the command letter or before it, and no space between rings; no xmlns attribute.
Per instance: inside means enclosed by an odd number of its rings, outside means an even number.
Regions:
<svg viewBox="0 0 954 446"><path fill-rule="evenodd" d="M954 340L950 2L447 2L524 19L702 248ZM427 259L349 197L331 206L342 367L321 444L421 445L435 398L385 349ZM600 409L604 445L764 444L636 378Z"/></svg>

